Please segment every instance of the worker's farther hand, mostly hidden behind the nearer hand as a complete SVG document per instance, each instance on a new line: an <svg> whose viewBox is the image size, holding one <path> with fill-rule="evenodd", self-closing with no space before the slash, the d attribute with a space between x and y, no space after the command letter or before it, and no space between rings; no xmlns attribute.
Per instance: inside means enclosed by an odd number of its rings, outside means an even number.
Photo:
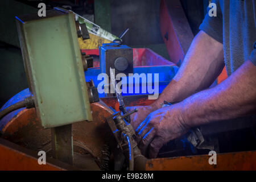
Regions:
<svg viewBox="0 0 256 182"><path fill-rule="evenodd" d="M147 115L152 113L152 111L156 109L152 105L126 107L126 110L128 112L134 109L138 109L138 111L136 113L131 114L130 118L131 118L131 126L133 126L133 129L136 131L139 124L141 124L141 122L144 121L144 119L146 119Z"/></svg>

